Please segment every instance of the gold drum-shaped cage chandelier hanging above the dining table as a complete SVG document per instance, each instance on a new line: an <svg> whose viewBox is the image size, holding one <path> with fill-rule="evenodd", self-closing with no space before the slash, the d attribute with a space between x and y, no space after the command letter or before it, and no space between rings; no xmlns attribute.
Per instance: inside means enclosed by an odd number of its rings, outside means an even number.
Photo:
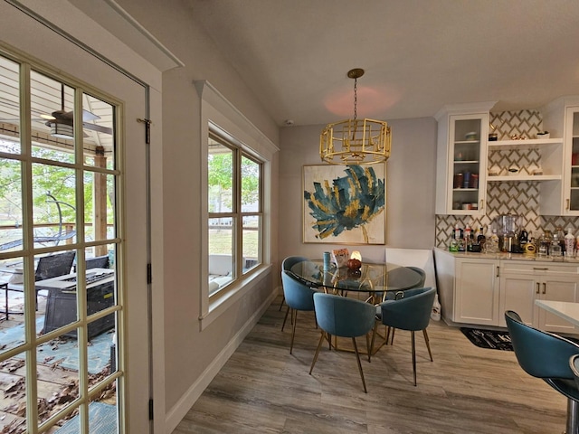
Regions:
<svg viewBox="0 0 579 434"><path fill-rule="evenodd" d="M390 156L391 132L382 120L357 118L357 82L364 70L347 72L354 79L354 118L327 124L319 137L319 156L330 165L371 165Z"/></svg>

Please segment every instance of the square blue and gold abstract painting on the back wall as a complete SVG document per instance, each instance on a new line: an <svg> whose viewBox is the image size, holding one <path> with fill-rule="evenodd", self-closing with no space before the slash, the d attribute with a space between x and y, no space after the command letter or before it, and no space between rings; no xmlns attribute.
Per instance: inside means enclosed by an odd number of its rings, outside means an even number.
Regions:
<svg viewBox="0 0 579 434"><path fill-rule="evenodd" d="M384 244L385 165L305 165L303 241Z"/></svg>

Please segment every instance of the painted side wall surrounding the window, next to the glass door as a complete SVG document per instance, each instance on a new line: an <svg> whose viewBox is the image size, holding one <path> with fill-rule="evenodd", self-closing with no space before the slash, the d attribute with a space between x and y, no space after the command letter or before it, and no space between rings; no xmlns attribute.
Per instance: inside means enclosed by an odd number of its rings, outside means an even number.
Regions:
<svg viewBox="0 0 579 434"><path fill-rule="evenodd" d="M213 42L195 26L195 10L180 0L120 0L119 5L144 25L185 67L163 74L163 203L165 250L165 365L166 413L169 424L185 415L195 393L203 391L213 373L215 359L229 351L243 325L268 299L277 285L271 276L256 285L225 315L200 331L201 219L199 203L202 180L200 149L200 100L195 80L209 80L236 109L274 144L279 129L253 98L233 68L216 52ZM153 119L155 127L155 119ZM277 191L278 160L274 158L272 187ZM277 233L277 201L272 203ZM274 237L272 260L277 263ZM231 346L231 345L230 345ZM210 378L209 378L210 380ZM170 428L170 427L169 427ZM170 431L169 431L170 432Z"/></svg>

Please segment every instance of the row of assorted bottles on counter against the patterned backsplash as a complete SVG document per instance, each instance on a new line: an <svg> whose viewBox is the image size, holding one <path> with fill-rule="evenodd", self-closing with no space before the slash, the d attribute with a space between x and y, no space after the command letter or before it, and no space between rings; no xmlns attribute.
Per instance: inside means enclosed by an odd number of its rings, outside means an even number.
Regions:
<svg viewBox="0 0 579 434"><path fill-rule="evenodd" d="M460 228L459 223L456 223L452 229L449 250L522 253L527 256L552 259L575 258L579 256L579 234L575 237L572 228L564 231L563 228L557 227L555 232L543 231L537 239L525 229L517 231L513 236L505 234L499 236L496 228L488 226L485 235L482 226L473 231L469 224Z"/></svg>

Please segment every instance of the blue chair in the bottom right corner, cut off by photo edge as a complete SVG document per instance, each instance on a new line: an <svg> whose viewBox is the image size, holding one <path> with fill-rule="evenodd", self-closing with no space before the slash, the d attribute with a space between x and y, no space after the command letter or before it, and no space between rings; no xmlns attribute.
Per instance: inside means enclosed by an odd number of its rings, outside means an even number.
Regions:
<svg viewBox="0 0 579 434"><path fill-rule="evenodd" d="M554 333L526 325L512 310L505 312L517 362L532 377L543 379L567 398L567 433L579 432L579 388L570 365L579 345Z"/></svg>

